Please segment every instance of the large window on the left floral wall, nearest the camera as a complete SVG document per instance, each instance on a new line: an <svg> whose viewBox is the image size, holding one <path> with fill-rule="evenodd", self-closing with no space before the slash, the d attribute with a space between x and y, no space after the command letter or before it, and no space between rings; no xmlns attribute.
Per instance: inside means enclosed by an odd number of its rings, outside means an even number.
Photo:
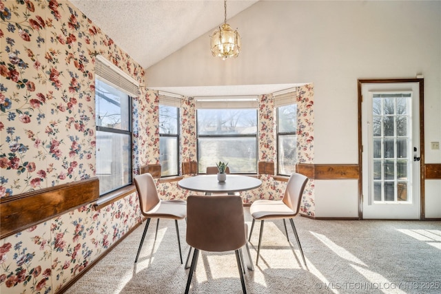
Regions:
<svg viewBox="0 0 441 294"><path fill-rule="evenodd" d="M119 76L111 64L96 59L96 176L100 196L132 184L130 95L135 96L137 87L127 90L124 80L126 78Z"/></svg>

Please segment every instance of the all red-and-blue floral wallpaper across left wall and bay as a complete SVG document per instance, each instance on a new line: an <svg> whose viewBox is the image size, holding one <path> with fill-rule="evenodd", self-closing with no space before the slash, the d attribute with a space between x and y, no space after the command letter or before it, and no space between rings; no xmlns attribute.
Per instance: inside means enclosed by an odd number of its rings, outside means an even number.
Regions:
<svg viewBox="0 0 441 294"><path fill-rule="evenodd" d="M0 0L0 198L95 175L94 63L100 54L144 85L144 71L68 1ZM314 162L312 85L300 87L299 158ZM134 174L158 163L158 95L133 102ZM193 99L182 103L181 159L196 160ZM276 161L274 104L259 97L258 160ZM261 175L245 203L275 199L284 182ZM185 199L177 182L157 182L164 199ZM314 216L314 182L302 212ZM1 293L57 293L141 220L136 193L103 209L73 209L0 240ZM134 254L136 254L134 252Z"/></svg>

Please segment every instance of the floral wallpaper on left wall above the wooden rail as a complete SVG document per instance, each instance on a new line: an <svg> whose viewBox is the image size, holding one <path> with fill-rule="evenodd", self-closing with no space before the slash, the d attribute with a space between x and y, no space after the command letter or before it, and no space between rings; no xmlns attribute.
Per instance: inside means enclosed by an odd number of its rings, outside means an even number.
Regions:
<svg viewBox="0 0 441 294"><path fill-rule="evenodd" d="M0 12L0 197L94 176L94 57L142 68L68 1Z"/></svg>

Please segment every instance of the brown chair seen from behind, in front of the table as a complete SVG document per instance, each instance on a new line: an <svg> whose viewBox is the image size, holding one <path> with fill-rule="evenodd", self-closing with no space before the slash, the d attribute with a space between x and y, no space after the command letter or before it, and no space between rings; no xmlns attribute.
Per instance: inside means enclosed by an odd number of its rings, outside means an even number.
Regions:
<svg viewBox="0 0 441 294"><path fill-rule="evenodd" d="M194 248L192 266L188 273L188 293L199 251L234 251L242 283L243 293L247 293L243 278L241 248L247 243L247 226L243 216L242 198L237 196L188 196L187 198L187 244Z"/></svg>

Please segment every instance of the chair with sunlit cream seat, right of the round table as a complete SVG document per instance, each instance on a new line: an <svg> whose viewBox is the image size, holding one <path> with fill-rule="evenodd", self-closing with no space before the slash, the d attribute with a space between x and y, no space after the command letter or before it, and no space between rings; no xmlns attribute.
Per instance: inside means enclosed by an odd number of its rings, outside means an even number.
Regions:
<svg viewBox="0 0 441 294"><path fill-rule="evenodd" d="M260 244L262 242L263 224L265 220L270 219L283 219L283 224L285 226L285 233L288 237L288 231L285 223L285 218L289 218L291 222L292 230L294 231L294 236L296 237L298 248L302 254L303 262L306 265L305 255L303 255L302 246L300 246L300 240L298 240L298 234L296 227L294 226L294 217L296 217L300 211L300 202L302 200L303 190L305 190L308 178L302 174L291 174L289 177L287 188L285 189L285 194L282 200L256 200L249 207L249 213L253 217L253 222L251 230L249 231L249 239L251 239L251 234L253 232L254 222L260 220L260 234L259 234L259 244L257 248L257 258L256 265L259 260L260 254Z"/></svg>

